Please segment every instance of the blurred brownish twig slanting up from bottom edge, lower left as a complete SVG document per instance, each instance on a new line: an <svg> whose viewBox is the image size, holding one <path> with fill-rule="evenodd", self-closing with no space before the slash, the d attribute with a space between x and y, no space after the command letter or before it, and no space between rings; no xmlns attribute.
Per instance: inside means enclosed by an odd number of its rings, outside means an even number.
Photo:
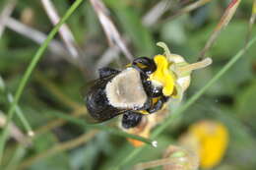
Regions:
<svg viewBox="0 0 256 170"><path fill-rule="evenodd" d="M90 131L87 134L84 134L84 135L80 136L77 139L74 139L74 140L71 140L71 141L68 141L68 142L63 142L63 143L56 144L52 148L50 148L50 149L48 149L44 152L40 152L37 155L26 159L24 162L21 163L21 165L19 166L19 169L21 169L21 170L26 169L26 168L30 167L34 162L38 161L39 159L43 159L45 157L52 156L56 153L72 149L74 147L77 147L77 146L85 143L85 142L88 142L96 136L97 132L98 131L93 130L93 131Z"/></svg>

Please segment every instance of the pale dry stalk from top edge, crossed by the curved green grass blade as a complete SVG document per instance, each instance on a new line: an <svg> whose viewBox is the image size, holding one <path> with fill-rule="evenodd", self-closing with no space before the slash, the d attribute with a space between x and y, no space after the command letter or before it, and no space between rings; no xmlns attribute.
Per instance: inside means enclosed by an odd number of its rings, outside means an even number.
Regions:
<svg viewBox="0 0 256 170"><path fill-rule="evenodd" d="M54 7L54 5L51 3L50 0L41 0L41 3L43 5L43 8L45 12L47 13L51 23L55 26L60 21L59 15ZM78 51L78 45L75 42L75 38L68 26L66 24L62 25L59 29L59 33L67 46L68 51L72 55L73 58L78 59L79 57L79 51Z"/></svg>

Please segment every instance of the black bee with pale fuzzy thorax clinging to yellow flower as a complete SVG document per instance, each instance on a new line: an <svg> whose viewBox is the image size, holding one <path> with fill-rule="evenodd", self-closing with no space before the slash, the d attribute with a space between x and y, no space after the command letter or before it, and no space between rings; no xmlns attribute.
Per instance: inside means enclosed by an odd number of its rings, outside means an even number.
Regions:
<svg viewBox="0 0 256 170"><path fill-rule="evenodd" d="M154 59L147 57L134 59L122 71L99 69L99 79L85 96L90 115L103 122L123 114L124 128L137 126L143 115L157 112L169 98L163 95L162 85L149 79L157 69Z"/></svg>

